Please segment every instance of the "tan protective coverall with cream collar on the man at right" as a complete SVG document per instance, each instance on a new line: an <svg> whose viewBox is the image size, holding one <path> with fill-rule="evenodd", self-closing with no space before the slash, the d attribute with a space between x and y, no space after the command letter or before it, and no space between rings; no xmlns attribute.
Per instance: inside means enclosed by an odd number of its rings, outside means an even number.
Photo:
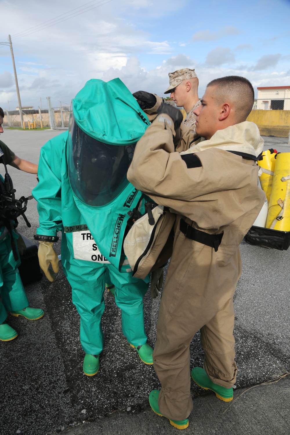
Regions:
<svg viewBox="0 0 290 435"><path fill-rule="evenodd" d="M177 214L153 361L162 385L160 412L183 420L193 408L189 346L199 329L210 379L226 388L236 381L233 294L241 274L239 244L265 194L258 187L256 162L226 151L260 154L263 140L255 124L243 122L217 131L181 154L174 151L174 135L171 118L158 115L137 143L127 177ZM193 138L193 131L186 131L177 149L186 150ZM201 167L183 160L192 153L197 153ZM181 218L198 230L223 232L218 251L186 238L179 229Z"/></svg>

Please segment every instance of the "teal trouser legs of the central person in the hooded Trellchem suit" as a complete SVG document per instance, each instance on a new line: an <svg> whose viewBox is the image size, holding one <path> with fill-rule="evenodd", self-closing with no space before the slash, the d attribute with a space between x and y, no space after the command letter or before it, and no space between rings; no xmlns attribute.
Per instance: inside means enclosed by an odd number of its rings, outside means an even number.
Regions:
<svg viewBox="0 0 290 435"><path fill-rule="evenodd" d="M80 315L80 342L83 351L99 355L103 350L101 318L105 309L106 273L115 285L115 301L121 309L122 331L133 346L147 342L144 327L143 297L148 284L132 277L130 266L119 272L112 264L76 260L73 255L72 234L63 234L61 244L63 271L72 287L72 300Z"/></svg>

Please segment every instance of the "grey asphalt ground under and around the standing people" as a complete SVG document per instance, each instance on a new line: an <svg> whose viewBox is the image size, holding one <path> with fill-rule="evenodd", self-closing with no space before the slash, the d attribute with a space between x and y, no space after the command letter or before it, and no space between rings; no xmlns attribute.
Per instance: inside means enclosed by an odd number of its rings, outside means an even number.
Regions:
<svg viewBox="0 0 290 435"><path fill-rule="evenodd" d="M0 139L18 156L37 163L40 147L59 131L4 130ZM265 138L265 149L290 152L285 139ZM8 167L17 197L28 196L34 175ZM1 170L3 174L3 167ZM33 241L38 226L36 201L28 203L31 228L19 219L19 231ZM60 241L54 247L60 254ZM243 274L234 297L237 398L247 388L290 372L290 249L277 251L240 245ZM171 434L178 430L153 414L148 394L160 388L153 366L144 365L121 331L120 310L105 292L102 324L104 351L96 376L83 375L79 315L63 271L53 283L43 277L26 287L30 306L43 308L37 321L8 316L18 337L0 342L0 435ZM145 326L156 340L160 297L144 298ZM199 335L191 344L191 367L202 366ZM246 391L225 403L192 382L193 412L188 434L289 434L290 376ZM228 408L230 406L230 408ZM228 409L227 409L228 408Z"/></svg>

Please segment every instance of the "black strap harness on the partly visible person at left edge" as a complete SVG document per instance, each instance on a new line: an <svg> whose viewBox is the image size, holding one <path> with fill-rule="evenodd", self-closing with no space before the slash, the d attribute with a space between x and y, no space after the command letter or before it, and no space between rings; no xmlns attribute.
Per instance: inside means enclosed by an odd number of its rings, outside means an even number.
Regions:
<svg viewBox="0 0 290 435"><path fill-rule="evenodd" d="M28 228L31 227L24 213L27 210L27 201L32 199L33 197L29 196L25 198L24 196L22 196L20 199L15 199L16 190L13 189L13 183L10 175L8 174L3 155L2 155L2 163L4 164L5 167L5 177L4 177L4 182L0 177L0 225L5 226L10 234L13 257L17 261L18 260L17 247L12 235L12 230L13 228L17 227L18 225L17 218L19 216L23 216L23 219L27 224Z"/></svg>

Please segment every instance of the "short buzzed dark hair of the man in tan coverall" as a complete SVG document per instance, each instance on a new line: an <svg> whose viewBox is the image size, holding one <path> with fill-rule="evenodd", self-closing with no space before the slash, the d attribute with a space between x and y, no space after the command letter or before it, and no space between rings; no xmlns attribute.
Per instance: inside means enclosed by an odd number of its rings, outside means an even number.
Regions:
<svg viewBox="0 0 290 435"><path fill-rule="evenodd" d="M216 87L217 104L234 104L237 122L247 119L254 104L254 89L245 77L226 76L212 80L207 86Z"/></svg>

